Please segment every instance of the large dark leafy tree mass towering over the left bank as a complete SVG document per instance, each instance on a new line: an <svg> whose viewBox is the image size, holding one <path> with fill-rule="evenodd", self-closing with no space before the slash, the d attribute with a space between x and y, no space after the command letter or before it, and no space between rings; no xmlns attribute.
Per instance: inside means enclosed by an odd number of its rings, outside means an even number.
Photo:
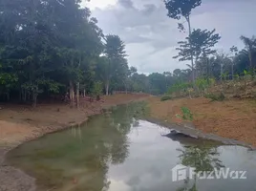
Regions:
<svg viewBox="0 0 256 191"><path fill-rule="evenodd" d="M35 106L37 96L63 96L69 89L74 105L76 85L78 106L79 84L92 78L93 67L89 65L102 53L102 31L96 18L79 3L1 1L0 76L9 74L16 83L11 85L5 79L0 96L13 93L11 96L20 95Z"/></svg>

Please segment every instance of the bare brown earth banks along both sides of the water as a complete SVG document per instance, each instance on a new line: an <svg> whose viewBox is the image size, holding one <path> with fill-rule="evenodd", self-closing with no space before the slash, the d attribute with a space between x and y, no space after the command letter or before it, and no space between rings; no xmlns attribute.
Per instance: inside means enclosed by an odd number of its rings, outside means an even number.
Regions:
<svg viewBox="0 0 256 191"><path fill-rule="evenodd" d="M63 130L101 114L105 108L131 101L147 100L148 120L199 138L219 140L227 145L256 145L256 104L251 100L211 102L205 98L160 101L146 95L116 95L99 102L84 102L79 110L67 105L40 105L35 110L24 106L1 106L0 110L0 191L32 191L35 180L3 163L6 152L25 141ZM184 123L181 107L193 113L193 123ZM152 119L155 118L155 119Z"/></svg>

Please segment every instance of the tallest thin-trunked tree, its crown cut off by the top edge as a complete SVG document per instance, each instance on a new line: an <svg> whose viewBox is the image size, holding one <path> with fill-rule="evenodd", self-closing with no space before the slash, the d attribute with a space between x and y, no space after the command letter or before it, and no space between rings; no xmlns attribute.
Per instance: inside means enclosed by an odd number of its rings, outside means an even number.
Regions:
<svg viewBox="0 0 256 191"><path fill-rule="evenodd" d="M189 35L191 35L192 29L191 29L191 23L190 23L190 15L191 11L202 4L202 0L164 0L165 8L168 10L168 16L180 20L181 16L185 18L187 24L188 24L188 32ZM184 27L181 23L179 23L179 29L181 31L184 30ZM192 48L190 47L190 60L191 60L191 67L192 67L192 74L193 74L193 81L195 80L194 76L194 59L193 59L193 53Z"/></svg>

